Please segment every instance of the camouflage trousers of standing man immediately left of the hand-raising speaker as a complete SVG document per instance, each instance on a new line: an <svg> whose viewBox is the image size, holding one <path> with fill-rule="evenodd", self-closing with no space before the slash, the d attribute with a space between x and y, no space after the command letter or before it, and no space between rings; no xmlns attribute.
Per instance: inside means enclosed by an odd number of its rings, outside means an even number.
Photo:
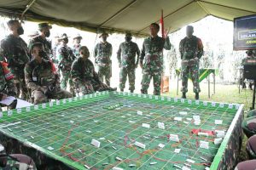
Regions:
<svg viewBox="0 0 256 170"><path fill-rule="evenodd" d="M134 68L122 67L120 69L119 88L121 90L124 90L125 82L127 80L127 75L129 78L129 90L133 92L135 89L135 69Z"/></svg>

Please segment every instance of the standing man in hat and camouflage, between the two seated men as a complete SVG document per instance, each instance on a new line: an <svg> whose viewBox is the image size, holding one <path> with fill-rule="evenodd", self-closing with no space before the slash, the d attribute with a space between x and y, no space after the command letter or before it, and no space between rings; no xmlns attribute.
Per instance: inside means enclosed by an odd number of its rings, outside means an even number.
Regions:
<svg viewBox="0 0 256 170"><path fill-rule="evenodd" d="M64 33L59 38L61 40L61 45L57 49L58 51L58 68L61 73L61 88L67 89L67 82L69 84L70 92L73 92L73 83L71 81L71 65L75 56L73 54L73 50L67 46L68 37L67 34Z"/></svg>

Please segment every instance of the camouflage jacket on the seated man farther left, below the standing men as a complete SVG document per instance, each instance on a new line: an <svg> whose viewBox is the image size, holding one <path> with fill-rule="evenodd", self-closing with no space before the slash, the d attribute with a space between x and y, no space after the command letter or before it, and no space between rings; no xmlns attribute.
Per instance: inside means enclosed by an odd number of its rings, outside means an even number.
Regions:
<svg viewBox="0 0 256 170"><path fill-rule="evenodd" d="M32 59L26 64L24 72L26 87L32 91L43 86L60 87L59 77L52 61L43 59L42 63L38 63L38 60Z"/></svg>

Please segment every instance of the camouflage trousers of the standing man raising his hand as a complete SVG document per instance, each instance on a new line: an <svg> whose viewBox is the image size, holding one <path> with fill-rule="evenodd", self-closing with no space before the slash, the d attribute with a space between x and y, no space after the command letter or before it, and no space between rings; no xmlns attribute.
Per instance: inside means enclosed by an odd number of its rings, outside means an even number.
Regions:
<svg viewBox="0 0 256 170"><path fill-rule="evenodd" d="M141 93L148 94L148 87L149 87L151 78L153 78L154 95L160 95L161 74L162 74L162 71L159 71L159 72L143 71Z"/></svg>

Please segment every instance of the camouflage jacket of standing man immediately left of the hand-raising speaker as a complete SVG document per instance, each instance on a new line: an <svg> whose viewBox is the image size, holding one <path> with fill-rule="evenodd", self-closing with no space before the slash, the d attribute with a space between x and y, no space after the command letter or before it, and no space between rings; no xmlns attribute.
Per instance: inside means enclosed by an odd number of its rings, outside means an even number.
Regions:
<svg viewBox="0 0 256 170"><path fill-rule="evenodd" d="M122 57L121 57L121 54L122 54ZM137 60L136 60L136 54L137 54ZM135 68L135 66L138 64L139 55L140 55L140 50L137 47L137 43L122 42L117 52L119 65L121 65L122 67Z"/></svg>

